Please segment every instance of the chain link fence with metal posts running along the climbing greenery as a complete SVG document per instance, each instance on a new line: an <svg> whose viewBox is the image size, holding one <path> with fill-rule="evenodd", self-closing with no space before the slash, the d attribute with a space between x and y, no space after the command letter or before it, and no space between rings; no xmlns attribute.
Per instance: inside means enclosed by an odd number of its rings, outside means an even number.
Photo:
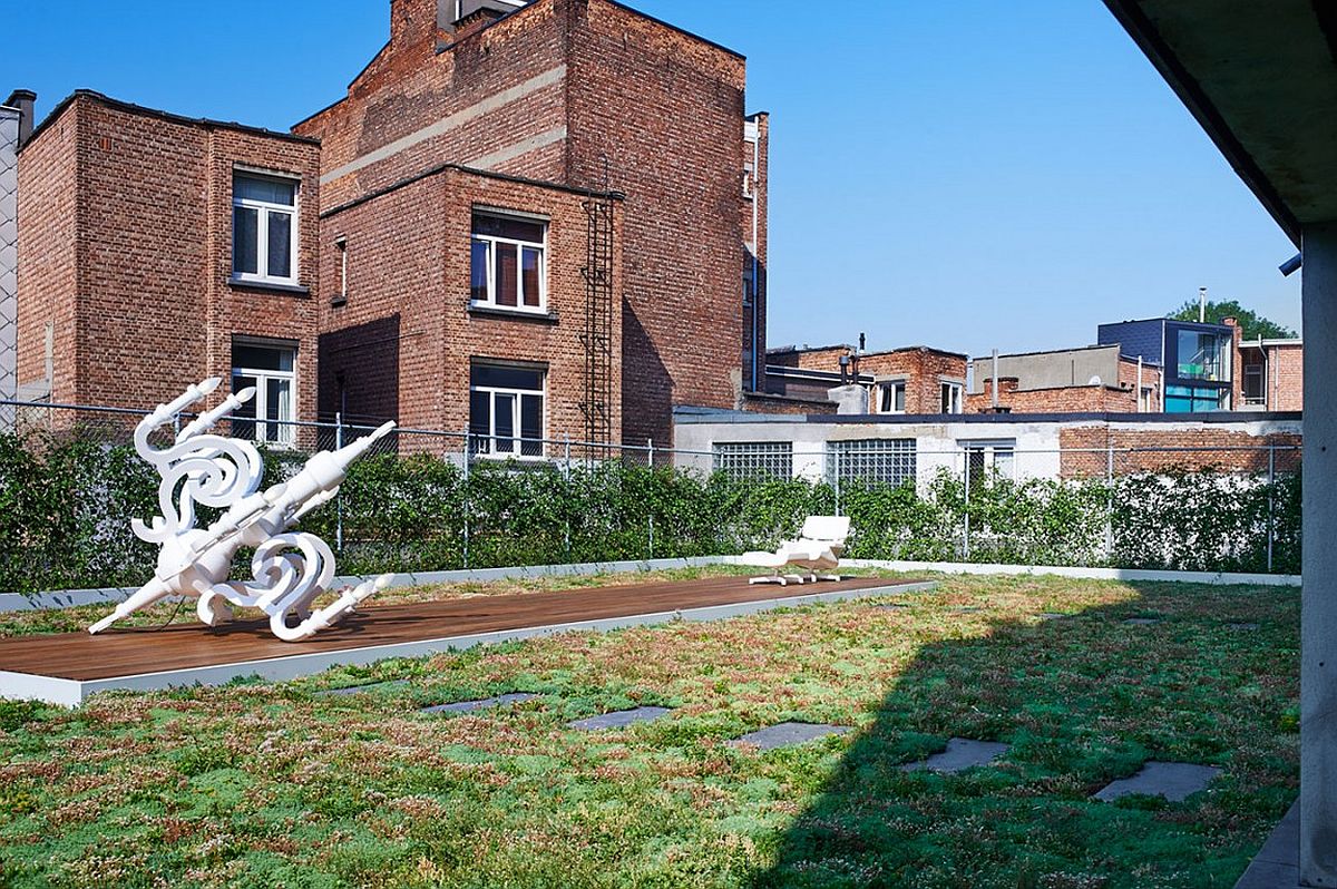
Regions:
<svg viewBox="0 0 1337 889"><path fill-rule="evenodd" d="M13 412L9 440L28 453L128 445L147 413L0 406ZM175 428L191 418L182 414ZM377 428L364 417L234 417L215 432L257 441L266 453L265 484L275 484L312 453ZM159 434L160 444L171 438L170 430ZM106 512L70 533L124 551L134 568L110 572L123 576L151 559L124 541L128 531L116 523L152 513L155 495L142 489L154 491L156 476L132 453L116 453L124 472L138 472L127 483L134 495L120 497L130 512ZM1019 448L997 440L935 448L864 438L686 451L397 428L303 525L334 545L349 572L721 555L773 547L804 515L837 513L852 519L853 557L1289 574L1298 572L1300 465L1293 442ZM0 477L0 496L4 485ZM21 539L25 529L7 531L0 519L0 548L15 543L5 533ZM90 586L111 583L96 580Z"/></svg>

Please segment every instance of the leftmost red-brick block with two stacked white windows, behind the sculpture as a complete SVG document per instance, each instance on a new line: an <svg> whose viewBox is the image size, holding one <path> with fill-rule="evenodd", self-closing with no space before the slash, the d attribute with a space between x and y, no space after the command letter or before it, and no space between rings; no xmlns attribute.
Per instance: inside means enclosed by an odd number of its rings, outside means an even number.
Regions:
<svg viewBox="0 0 1337 889"><path fill-rule="evenodd" d="M19 155L19 382L146 408L206 376L314 418L320 147L79 91ZM238 414L243 416L243 414Z"/></svg>

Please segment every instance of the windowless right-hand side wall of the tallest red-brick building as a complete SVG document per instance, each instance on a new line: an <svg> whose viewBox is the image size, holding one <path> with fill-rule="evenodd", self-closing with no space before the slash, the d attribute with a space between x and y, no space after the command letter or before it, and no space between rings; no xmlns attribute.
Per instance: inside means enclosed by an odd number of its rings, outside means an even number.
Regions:
<svg viewBox="0 0 1337 889"><path fill-rule="evenodd" d="M567 0L570 180L626 193L623 438L742 389L745 61L603 0ZM750 226L750 218L749 218Z"/></svg>

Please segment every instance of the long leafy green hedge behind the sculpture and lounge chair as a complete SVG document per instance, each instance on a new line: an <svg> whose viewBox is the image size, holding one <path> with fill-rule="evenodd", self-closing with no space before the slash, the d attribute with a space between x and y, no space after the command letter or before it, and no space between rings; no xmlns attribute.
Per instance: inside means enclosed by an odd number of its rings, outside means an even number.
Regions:
<svg viewBox="0 0 1337 889"><path fill-rule="evenodd" d="M25 444L0 436L0 591L142 583L156 549L128 519L155 513L154 471L128 447ZM299 461L269 455L266 484ZM1298 475L1270 485L1210 469L1112 485L993 479L967 499L944 472L919 493L846 481L838 497L853 524L850 557L1266 571L1270 525L1273 569L1300 571ZM429 456L362 460L340 500L303 528L333 544L342 516L345 574L737 553L774 547L804 516L837 509L836 491L801 480L616 461L570 471L480 463L465 479Z"/></svg>

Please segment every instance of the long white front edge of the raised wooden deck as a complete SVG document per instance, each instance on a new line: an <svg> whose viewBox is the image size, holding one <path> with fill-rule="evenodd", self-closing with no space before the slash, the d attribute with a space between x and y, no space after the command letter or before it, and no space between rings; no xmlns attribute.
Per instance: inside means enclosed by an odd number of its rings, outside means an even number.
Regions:
<svg viewBox="0 0 1337 889"><path fill-rule="evenodd" d="M463 636L441 636L420 642L400 642L365 648L345 648L342 651L317 651L282 658L243 660L237 663L213 664L209 667L191 667L186 670L166 670L160 672L114 676L108 679L75 680L0 671L0 696L27 698L64 706L76 706L86 701L90 695L99 691L160 691L163 688L179 686L218 686L242 676L261 676L262 679L270 680L297 679L299 676L309 676L336 666L366 666L388 658L420 658L448 651L464 651L475 646L519 642L523 639L532 639L535 636L550 636L559 632L604 632L608 630L668 623L671 620L723 620L726 618L745 616L777 608L797 608L818 603L834 603L849 599L924 591L932 590L936 586L937 584L933 582L901 584L889 583L886 586L868 587L864 590L838 590L833 592L813 591L793 596L758 599L753 602L721 606L703 606L682 611L654 611L638 615L626 615L622 618L602 618L595 620L517 627L513 630L497 630L493 632L469 634Z"/></svg>

